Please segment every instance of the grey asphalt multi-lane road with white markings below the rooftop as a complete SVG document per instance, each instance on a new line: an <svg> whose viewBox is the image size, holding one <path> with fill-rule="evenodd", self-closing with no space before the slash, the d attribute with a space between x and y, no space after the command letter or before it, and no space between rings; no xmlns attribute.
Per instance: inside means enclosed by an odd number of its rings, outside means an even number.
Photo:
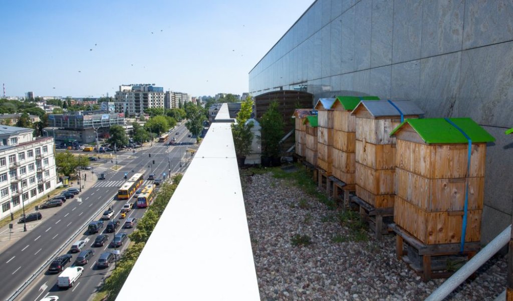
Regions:
<svg viewBox="0 0 513 301"><path fill-rule="evenodd" d="M180 132L175 135L175 132ZM29 232L20 238L16 243L0 254L0 270L3 274L3 285L0 287L0 298L7 300L12 294L21 287L26 280L37 272L43 264L56 255L68 253L70 244L66 244L71 239L71 243L76 240L88 240L86 249L94 250L94 256L84 266L83 275L77 280L73 288L60 290L56 286L59 273L49 274L43 272L35 278L31 284L16 297L17 300L40 300L46 295L58 295L65 300L87 300L92 293L96 291L101 284L103 277L114 268L97 269L96 260L103 252L113 250L108 246L95 248L91 247L96 235L88 235L87 224L89 220L99 219L106 207L112 206L115 212L113 219L119 218L121 207L127 200L117 200L115 197L117 190L125 182L124 174L133 174L133 172L144 172L145 183L150 183L147 179L150 173L155 174L155 178L162 178L164 173L166 178L171 173L183 172L186 168L184 158L189 156L186 153L194 142L194 138L187 136L187 130L181 126L169 135L169 139L176 137L176 143L168 146L167 143L153 143L148 149L132 152L118 153L118 163L121 169L114 171L110 169L115 163L109 160L95 167L92 172L97 174L105 173L106 179L97 180L87 190L83 190L76 198L69 199L65 206L58 209L47 209L41 211L43 219L38 222L30 222ZM151 157L150 155L151 154ZM154 164L153 164L154 161ZM102 162L100 162L102 163ZM133 172L132 172L133 170ZM88 172L88 178L93 176ZM129 200L133 202L132 199ZM144 214L143 209L131 210L128 217L141 218ZM48 212L48 214L47 214ZM99 215L98 215L99 214ZM125 219L121 219L124 223ZM108 221L105 222L105 226ZM84 227L85 226L85 227ZM105 229L105 227L103 228ZM116 229L115 233L131 233L133 229ZM109 234L111 242L114 233ZM127 244L124 244L121 251ZM74 262L76 254L73 255ZM72 264L67 265L71 266Z"/></svg>

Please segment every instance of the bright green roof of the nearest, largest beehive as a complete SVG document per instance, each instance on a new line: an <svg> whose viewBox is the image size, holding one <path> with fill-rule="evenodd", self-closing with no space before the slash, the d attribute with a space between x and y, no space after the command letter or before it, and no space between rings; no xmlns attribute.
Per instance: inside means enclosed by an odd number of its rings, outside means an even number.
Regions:
<svg viewBox="0 0 513 301"><path fill-rule="evenodd" d="M449 118L460 127L472 140L472 143L493 142L495 138L479 126L471 118ZM467 143L467 138L444 118L406 119L395 128L395 134L404 124L409 124L427 144L433 143Z"/></svg>

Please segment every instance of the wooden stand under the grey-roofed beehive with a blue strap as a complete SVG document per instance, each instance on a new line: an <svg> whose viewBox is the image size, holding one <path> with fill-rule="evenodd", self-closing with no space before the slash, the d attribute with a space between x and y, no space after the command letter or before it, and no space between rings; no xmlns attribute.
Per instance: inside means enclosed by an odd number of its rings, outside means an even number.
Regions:
<svg viewBox="0 0 513 301"><path fill-rule="evenodd" d="M356 195L351 196L351 202L357 204L363 222L376 234L376 239L381 240L383 235L393 234L388 229L388 224L393 223L393 207L374 208L369 203Z"/></svg>

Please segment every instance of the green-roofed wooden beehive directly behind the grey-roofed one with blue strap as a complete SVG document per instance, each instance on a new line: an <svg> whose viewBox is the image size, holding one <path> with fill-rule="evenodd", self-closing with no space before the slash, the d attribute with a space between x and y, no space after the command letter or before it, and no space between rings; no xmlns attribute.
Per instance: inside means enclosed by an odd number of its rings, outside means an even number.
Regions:
<svg viewBox="0 0 513 301"><path fill-rule="evenodd" d="M338 96L333 109L333 176L344 182L345 190L354 191L356 156L356 116L352 110L362 100L379 100L376 96Z"/></svg>

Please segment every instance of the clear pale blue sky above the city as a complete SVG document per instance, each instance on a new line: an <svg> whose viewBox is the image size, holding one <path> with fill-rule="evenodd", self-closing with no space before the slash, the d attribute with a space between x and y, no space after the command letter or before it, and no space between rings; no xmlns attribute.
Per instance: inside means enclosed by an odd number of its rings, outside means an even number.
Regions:
<svg viewBox="0 0 513 301"><path fill-rule="evenodd" d="M122 84L242 94L249 71L312 3L2 1L0 85L7 96L114 96Z"/></svg>

